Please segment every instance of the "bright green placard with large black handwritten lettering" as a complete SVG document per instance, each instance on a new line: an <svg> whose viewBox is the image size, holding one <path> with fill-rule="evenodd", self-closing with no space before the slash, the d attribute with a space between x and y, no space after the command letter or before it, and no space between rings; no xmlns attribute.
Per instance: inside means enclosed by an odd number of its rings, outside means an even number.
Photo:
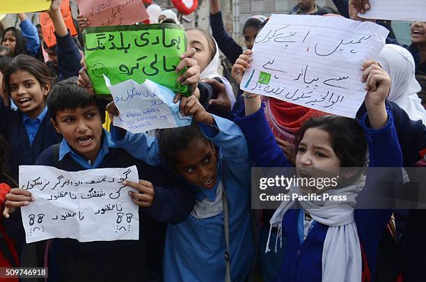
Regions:
<svg viewBox="0 0 426 282"><path fill-rule="evenodd" d="M176 79L179 56L187 50L187 38L180 24L138 24L99 26L84 29L87 72L97 94L109 94L103 75L111 84L133 79L139 84L150 79L174 92L189 95L189 86Z"/></svg>

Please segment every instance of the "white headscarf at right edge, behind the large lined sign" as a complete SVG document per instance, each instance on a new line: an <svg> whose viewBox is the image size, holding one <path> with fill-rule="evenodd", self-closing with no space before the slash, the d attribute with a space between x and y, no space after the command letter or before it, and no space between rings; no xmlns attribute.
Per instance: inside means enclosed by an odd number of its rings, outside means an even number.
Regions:
<svg viewBox="0 0 426 282"><path fill-rule="evenodd" d="M422 120L426 125L426 111L417 95L422 88L416 80L416 65L410 52L404 47L386 44L377 61L392 79L388 100L404 109L411 120Z"/></svg>

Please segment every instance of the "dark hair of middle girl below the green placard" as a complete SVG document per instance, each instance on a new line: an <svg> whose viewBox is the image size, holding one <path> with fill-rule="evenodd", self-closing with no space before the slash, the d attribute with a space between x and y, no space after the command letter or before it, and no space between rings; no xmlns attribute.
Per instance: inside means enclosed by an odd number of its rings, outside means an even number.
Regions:
<svg viewBox="0 0 426 282"><path fill-rule="evenodd" d="M160 155L168 164L172 165L178 162L176 153L189 148L191 141L196 139L209 142L195 120L189 126L167 128L157 132Z"/></svg>

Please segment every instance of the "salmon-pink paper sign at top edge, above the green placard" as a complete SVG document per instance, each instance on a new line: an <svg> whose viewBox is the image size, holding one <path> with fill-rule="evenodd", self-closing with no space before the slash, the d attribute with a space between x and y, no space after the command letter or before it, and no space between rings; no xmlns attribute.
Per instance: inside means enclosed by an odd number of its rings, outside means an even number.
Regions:
<svg viewBox="0 0 426 282"><path fill-rule="evenodd" d="M79 12L90 26L120 26L148 19L141 0L77 0Z"/></svg>

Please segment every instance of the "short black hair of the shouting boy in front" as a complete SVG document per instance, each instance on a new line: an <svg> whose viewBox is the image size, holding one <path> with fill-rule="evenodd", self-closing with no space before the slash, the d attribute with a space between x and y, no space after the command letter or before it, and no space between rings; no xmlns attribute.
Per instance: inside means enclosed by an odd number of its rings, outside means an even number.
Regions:
<svg viewBox="0 0 426 282"><path fill-rule="evenodd" d="M105 106L95 94L77 86L77 77L58 82L47 95L47 109L50 117L56 120L56 113L65 109L77 109L95 104L99 108L102 123L105 123Z"/></svg>

